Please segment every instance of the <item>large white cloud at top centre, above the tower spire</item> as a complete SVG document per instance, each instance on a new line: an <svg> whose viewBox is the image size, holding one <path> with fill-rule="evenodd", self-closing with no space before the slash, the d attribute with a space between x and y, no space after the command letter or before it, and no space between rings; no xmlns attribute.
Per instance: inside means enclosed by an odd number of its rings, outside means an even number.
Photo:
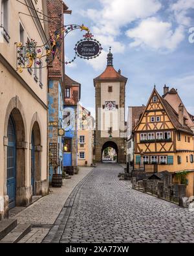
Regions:
<svg viewBox="0 0 194 256"><path fill-rule="evenodd" d="M162 7L158 0L99 0L102 8L82 10L83 16L89 17L95 24L91 29L103 47L112 46L114 52L124 52L125 45L118 36L122 27L136 19L143 19L156 14Z"/></svg>

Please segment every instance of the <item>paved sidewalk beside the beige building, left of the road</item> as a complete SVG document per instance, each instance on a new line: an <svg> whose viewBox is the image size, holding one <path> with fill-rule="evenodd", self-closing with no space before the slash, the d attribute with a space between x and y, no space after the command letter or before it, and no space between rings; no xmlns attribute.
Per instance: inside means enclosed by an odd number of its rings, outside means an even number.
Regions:
<svg viewBox="0 0 194 256"><path fill-rule="evenodd" d="M27 208L18 210L22 211L14 216L14 218L17 218L17 223L32 225L32 231L20 243L40 243L45 238L74 187L93 168L80 167L79 169L80 171L77 175L72 176L70 180L63 181L63 187L50 187L50 194L48 196L40 198Z"/></svg>

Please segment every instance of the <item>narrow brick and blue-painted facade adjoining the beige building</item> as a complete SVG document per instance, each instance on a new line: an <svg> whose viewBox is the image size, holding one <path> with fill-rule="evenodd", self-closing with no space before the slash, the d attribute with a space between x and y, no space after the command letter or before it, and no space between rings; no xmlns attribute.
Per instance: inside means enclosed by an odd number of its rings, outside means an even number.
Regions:
<svg viewBox="0 0 194 256"><path fill-rule="evenodd" d="M61 2L61 4L60 4ZM49 19L48 31L51 37L61 30L64 24L64 14L69 14L67 5L61 0L47 0L48 16L58 17ZM49 141L49 181L52 174L61 174L63 171L63 137L59 136L58 129L63 128L63 77L65 73L65 42L59 40L57 56L48 65L48 141Z"/></svg>

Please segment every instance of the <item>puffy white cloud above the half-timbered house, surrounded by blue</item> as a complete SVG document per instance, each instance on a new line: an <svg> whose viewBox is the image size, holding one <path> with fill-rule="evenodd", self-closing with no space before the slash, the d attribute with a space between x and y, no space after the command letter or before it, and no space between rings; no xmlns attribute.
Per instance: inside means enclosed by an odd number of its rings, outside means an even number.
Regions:
<svg viewBox="0 0 194 256"><path fill-rule="evenodd" d="M156 17L149 17L142 20L138 27L127 30L126 35L134 40L129 44L131 47L146 45L155 50L173 51L184 40L184 29L178 26L173 31L171 23L160 21Z"/></svg>

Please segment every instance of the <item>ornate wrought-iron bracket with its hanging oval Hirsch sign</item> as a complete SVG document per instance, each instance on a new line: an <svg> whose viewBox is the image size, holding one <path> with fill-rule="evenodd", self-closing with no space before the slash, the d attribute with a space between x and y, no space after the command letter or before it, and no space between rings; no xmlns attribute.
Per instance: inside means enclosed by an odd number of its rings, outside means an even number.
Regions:
<svg viewBox="0 0 194 256"><path fill-rule="evenodd" d="M85 39L78 41L76 44L76 54L70 62L62 62L58 57L58 52L63 47L65 36L72 30L85 30L87 33L83 36ZM45 43L38 45L35 40L29 40L23 43L16 43L17 46L17 71L23 72L23 69L42 69L52 64L57 57L65 65L74 62L76 56L90 60L96 58L102 52L102 45L99 41L92 39L92 34L88 27L84 25L65 25L56 30ZM44 63L45 62L45 63Z"/></svg>

